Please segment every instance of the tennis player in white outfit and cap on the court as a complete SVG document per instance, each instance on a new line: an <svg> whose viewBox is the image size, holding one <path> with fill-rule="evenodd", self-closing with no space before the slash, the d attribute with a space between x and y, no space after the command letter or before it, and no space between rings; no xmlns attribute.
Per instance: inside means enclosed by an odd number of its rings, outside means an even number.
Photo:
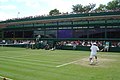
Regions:
<svg viewBox="0 0 120 80"><path fill-rule="evenodd" d="M90 64L93 64L93 58L95 57L96 62L97 62L97 51L99 51L98 46L96 43L93 43L92 46L90 47L91 53L90 53Z"/></svg>

